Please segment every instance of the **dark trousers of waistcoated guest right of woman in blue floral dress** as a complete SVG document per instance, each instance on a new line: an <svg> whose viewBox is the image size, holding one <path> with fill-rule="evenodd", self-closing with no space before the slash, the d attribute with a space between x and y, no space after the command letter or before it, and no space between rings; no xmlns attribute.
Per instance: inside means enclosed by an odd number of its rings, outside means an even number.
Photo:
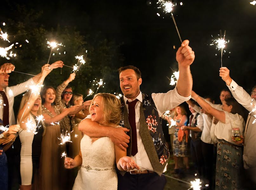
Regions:
<svg viewBox="0 0 256 190"><path fill-rule="evenodd" d="M196 170L198 170L199 175L203 174L203 154L201 140L192 140L190 141L191 156L194 162Z"/></svg>

